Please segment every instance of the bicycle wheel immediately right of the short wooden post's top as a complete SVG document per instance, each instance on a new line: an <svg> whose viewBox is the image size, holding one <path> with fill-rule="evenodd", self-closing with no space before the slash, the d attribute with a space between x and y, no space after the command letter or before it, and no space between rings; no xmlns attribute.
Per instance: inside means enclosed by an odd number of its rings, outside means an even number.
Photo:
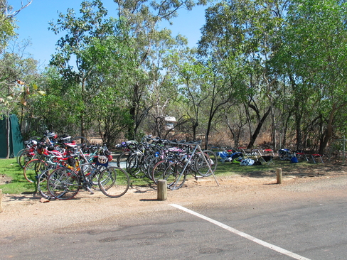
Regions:
<svg viewBox="0 0 347 260"><path fill-rule="evenodd" d="M164 170L163 179L166 180L167 185L174 190L181 188L186 181L186 173L182 174L183 168L183 164L178 162L170 163Z"/></svg>

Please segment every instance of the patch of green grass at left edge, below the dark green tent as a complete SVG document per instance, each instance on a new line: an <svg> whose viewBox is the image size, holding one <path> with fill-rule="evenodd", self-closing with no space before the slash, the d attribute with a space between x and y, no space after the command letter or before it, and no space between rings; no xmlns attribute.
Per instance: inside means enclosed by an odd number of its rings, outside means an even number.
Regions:
<svg viewBox="0 0 347 260"><path fill-rule="evenodd" d="M16 158L0 159L0 178L3 175L8 176L12 180L10 183L0 185L2 193L36 193L35 183L29 183L24 178L23 169L18 165Z"/></svg>

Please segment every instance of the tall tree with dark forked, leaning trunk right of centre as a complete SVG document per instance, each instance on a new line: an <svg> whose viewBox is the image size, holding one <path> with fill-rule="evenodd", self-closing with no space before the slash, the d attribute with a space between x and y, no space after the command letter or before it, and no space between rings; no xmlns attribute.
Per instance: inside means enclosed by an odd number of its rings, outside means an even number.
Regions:
<svg viewBox="0 0 347 260"><path fill-rule="evenodd" d="M249 148L277 99L277 76L269 73L267 60L275 50L284 6L282 1L220 1L206 11L199 50L203 57L210 57L223 77L242 82L237 85L239 102L245 102L249 120L249 109L257 118L257 126L250 131ZM249 126L252 130L251 121Z"/></svg>

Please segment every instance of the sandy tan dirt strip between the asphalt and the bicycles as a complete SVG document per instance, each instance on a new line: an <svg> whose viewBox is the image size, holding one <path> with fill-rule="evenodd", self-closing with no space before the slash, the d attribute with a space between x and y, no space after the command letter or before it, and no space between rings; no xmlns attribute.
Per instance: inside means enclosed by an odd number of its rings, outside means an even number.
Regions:
<svg viewBox="0 0 347 260"><path fill-rule="evenodd" d="M322 193L345 196L341 190L346 190L346 183L343 182L347 181L347 178L343 176L347 175L347 166L317 163L306 167L298 165L290 173L282 169L282 184L277 184L275 170L264 172L255 169L250 168L247 175L217 178L210 176L198 180L189 176L183 188L168 191L165 201L157 200L155 186L131 187L119 198L106 197L102 193L90 195L86 191L80 191L72 200L49 202L42 202L40 195L4 194L3 212L0 213L0 242L18 239L34 230L36 233L63 232L72 226L90 227L107 222L110 218L121 222L124 217L145 217L150 212L170 210L171 203L201 207L206 204L228 203L233 207L247 208L255 202L267 203L269 198L292 202L310 196L321 196ZM343 182L338 178L343 178ZM331 188L328 181L334 179L337 184ZM0 183L6 181L9 180L0 175ZM320 188L316 188L317 183L320 183Z"/></svg>

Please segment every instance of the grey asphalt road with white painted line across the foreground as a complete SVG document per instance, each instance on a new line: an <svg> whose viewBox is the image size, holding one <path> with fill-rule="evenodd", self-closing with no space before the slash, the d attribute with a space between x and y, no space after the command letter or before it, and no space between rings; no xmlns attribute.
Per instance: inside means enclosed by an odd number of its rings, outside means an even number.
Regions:
<svg viewBox="0 0 347 260"><path fill-rule="evenodd" d="M305 200L168 205L88 227L7 237L0 259L347 259L345 187Z"/></svg>

